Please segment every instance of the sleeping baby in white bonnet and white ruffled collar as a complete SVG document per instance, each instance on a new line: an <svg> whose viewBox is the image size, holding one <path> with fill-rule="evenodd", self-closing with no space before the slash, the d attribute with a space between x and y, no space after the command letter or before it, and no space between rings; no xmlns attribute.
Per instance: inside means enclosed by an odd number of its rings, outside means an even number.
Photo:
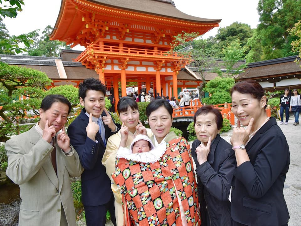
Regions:
<svg viewBox="0 0 301 226"><path fill-rule="evenodd" d="M129 148L120 146L116 157L138 162L154 163L160 159L165 151L165 144L155 148L148 136L139 134L134 138Z"/></svg>

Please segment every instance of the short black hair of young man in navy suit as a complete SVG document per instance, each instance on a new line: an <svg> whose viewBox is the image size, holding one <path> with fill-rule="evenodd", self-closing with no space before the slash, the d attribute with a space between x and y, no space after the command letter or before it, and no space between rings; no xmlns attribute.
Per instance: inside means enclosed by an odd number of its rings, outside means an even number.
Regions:
<svg viewBox="0 0 301 226"><path fill-rule="evenodd" d="M103 83L95 78L87 78L78 85L78 96L82 97L84 100L86 97L87 90L96 90L103 92L103 95L106 96L107 88Z"/></svg>

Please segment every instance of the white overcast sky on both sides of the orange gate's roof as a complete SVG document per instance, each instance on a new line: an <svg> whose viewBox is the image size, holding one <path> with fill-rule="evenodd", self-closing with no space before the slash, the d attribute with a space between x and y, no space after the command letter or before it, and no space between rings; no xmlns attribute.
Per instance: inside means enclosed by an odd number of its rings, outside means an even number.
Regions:
<svg viewBox="0 0 301 226"><path fill-rule="evenodd" d="M114 0L112 0L114 1ZM259 15L257 13L258 0L246 3L242 0L173 0L176 8L183 13L201 18L222 19L220 27L226 27L234 22L249 24L256 28ZM35 29L43 31L47 25L54 27L61 0L26 0L23 12L15 19L3 20L10 35L26 34ZM219 27L204 34L204 39L215 36ZM80 49L80 48L75 48Z"/></svg>

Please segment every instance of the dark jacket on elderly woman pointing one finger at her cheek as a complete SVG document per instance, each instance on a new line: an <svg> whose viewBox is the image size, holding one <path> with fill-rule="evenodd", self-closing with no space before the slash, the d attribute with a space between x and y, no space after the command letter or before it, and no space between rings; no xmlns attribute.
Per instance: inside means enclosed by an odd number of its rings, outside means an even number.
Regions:
<svg viewBox="0 0 301 226"><path fill-rule="evenodd" d="M197 166L202 226L230 226L232 220L228 197L235 169L234 151L232 146L217 134L211 143L207 161L199 165L195 149L200 143L199 140L193 141L191 151Z"/></svg>

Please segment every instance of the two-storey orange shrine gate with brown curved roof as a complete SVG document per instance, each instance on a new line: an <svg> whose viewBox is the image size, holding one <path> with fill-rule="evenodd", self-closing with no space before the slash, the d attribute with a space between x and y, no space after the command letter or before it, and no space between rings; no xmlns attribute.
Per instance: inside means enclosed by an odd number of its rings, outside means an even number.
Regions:
<svg viewBox="0 0 301 226"><path fill-rule="evenodd" d="M126 96L131 84L177 97L178 71L189 59L172 51L174 36L202 35L220 21L182 13L172 0L62 0L50 39L84 46L74 61L95 70L116 100L118 87Z"/></svg>

